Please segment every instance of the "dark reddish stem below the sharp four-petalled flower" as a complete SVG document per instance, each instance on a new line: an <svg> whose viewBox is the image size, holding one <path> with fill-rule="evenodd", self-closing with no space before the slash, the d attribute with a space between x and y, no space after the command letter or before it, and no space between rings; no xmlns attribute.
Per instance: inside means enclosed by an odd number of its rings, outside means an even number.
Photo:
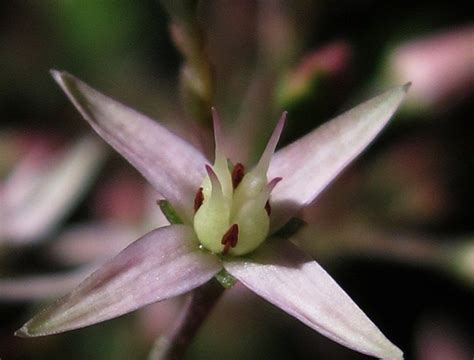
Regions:
<svg viewBox="0 0 474 360"><path fill-rule="evenodd" d="M168 335L160 336L149 360L180 360L225 288L215 279L195 289L185 309Z"/></svg>

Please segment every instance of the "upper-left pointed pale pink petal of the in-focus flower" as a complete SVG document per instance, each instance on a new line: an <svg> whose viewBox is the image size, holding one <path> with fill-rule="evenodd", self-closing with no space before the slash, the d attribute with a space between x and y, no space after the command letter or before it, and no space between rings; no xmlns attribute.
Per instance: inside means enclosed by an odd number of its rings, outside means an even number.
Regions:
<svg viewBox="0 0 474 360"><path fill-rule="evenodd" d="M190 222L193 199L205 175L204 155L162 125L74 76L54 70L52 74L94 130Z"/></svg>

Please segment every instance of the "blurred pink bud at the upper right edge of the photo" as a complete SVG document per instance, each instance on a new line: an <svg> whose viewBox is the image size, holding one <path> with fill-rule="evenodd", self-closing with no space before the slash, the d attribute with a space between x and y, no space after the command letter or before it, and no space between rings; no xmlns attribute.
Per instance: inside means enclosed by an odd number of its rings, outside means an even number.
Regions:
<svg viewBox="0 0 474 360"><path fill-rule="evenodd" d="M412 81L407 105L440 109L474 90L474 27L411 40L388 57L389 82Z"/></svg>

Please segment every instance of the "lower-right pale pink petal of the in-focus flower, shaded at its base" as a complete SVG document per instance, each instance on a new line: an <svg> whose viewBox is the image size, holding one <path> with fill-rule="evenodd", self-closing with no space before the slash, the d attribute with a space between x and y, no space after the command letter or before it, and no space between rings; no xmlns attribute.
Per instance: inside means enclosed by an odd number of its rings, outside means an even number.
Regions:
<svg viewBox="0 0 474 360"><path fill-rule="evenodd" d="M364 354L401 359L393 345L315 261L288 242L267 245L225 269L288 314L328 338Z"/></svg>

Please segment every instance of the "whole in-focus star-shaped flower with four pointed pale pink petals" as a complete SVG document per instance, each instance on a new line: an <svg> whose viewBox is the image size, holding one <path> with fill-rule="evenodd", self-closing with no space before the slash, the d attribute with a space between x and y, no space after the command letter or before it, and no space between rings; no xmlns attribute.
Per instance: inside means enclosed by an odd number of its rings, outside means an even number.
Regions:
<svg viewBox="0 0 474 360"><path fill-rule="evenodd" d="M157 122L72 75L52 73L83 117L167 199L179 220L132 243L17 335L43 336L111 319L193 290L225 269L334 341L372 356L402 358L324 269L275 232L373 140L408 86L379 95L274 153L284 114L259 163L245 174L240 165L232 172L227 168L215 112L216 157L210 166L200 151Z"/></svg>

